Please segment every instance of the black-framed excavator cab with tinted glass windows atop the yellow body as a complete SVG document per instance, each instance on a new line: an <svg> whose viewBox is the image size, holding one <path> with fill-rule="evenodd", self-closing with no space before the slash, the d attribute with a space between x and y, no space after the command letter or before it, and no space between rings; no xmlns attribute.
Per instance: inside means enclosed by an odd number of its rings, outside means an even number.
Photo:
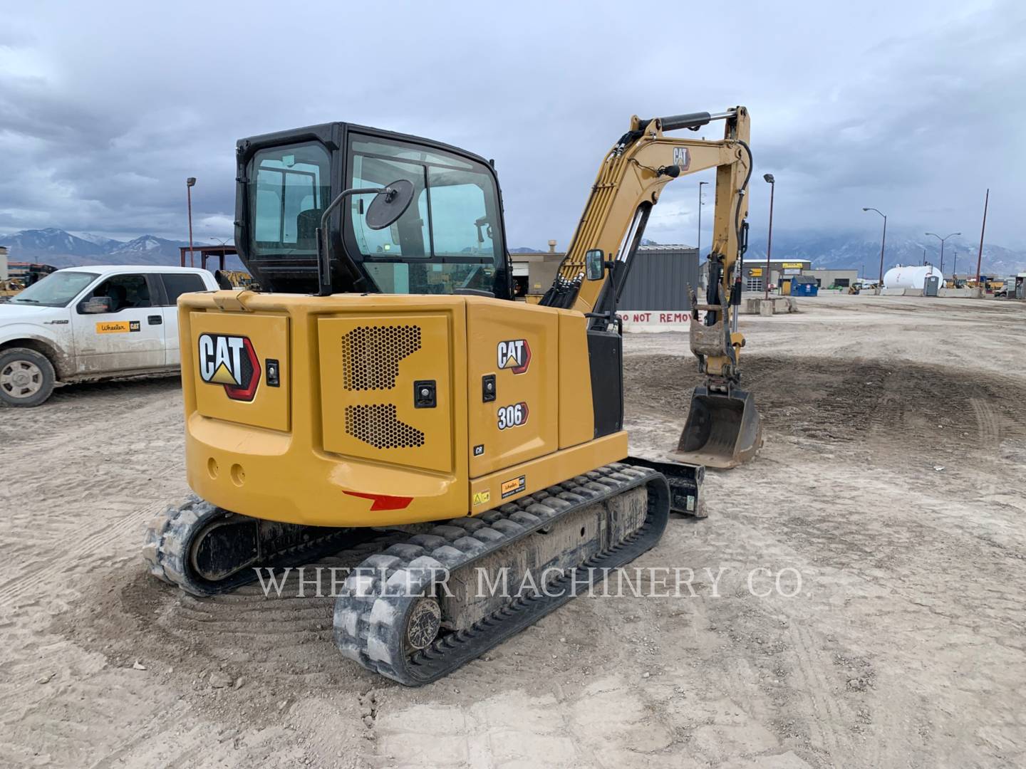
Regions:
<svg viewBox="0 0 1026 769"><path fill-rule="evenodd" d="M235 242L262 290L512 297L499 180L483 158L341 122L244 138L236 156ZM410 203L371 220L376 192L396 183ZM328 211L345 191L359 192Z"/></svg>

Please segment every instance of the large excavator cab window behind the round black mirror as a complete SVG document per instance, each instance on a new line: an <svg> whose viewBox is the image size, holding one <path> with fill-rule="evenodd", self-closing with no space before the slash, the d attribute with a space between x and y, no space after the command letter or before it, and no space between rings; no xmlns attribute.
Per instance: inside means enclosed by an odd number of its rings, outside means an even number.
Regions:
<svg viewBox="0 0 1026 769"><path fill-rule="evenodd" d="M413 202L389 228L371 230L370 196L353 199L350 222L363 269L385 293L491 291L502 267L499 194L480 163L379 136L350 139L349 187L413 185Z"/></svg>

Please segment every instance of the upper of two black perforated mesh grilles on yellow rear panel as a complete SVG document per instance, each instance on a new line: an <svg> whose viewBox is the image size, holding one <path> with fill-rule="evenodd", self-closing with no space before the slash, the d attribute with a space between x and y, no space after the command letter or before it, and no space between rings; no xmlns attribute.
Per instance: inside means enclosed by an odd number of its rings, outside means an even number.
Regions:
<svg viewBox="0 0 1026 769"><path fill-rule="evenodd" d="M342 337L343 387L391 390L399 361L420 349L420 326L357 326Z"/></svg>

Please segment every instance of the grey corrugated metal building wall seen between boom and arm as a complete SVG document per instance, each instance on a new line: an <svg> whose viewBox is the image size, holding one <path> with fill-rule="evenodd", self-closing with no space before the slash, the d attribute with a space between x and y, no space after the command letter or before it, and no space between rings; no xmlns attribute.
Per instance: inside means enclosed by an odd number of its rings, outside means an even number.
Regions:
<svg viewBox="0 0 1026 769"><path fill-rule="evenodd" d="M690 246L641 246L619 310L690 310L687 284L699 290L699 252Z"/></svg>

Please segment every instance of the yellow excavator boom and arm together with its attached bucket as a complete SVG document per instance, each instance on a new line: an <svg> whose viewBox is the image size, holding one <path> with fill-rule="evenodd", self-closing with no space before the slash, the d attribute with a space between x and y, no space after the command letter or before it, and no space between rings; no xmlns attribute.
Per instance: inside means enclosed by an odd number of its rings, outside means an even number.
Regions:
<svg viewBox="0 0 1026 769"><path fill-rule="evenodd" d="M712 120L725 122L723 138L707 141L666 135L697 130ZM722 113L692 113L631 119L631 129L609 150L567 254L543 305L578 310L591 326L614 321L617 302L652 207L675 178L716 169L713 243L708 287L700 302L692 295L690 349L706 375L696 388L674 458L713 468L751 459L761 444L761 427L750 393L738 388L744 335L737 328L741 300L740 265L746 248L747 188L752 171L749 117L744 107ZM588 254L600 252L608 271L586 279Z"/></svg>

